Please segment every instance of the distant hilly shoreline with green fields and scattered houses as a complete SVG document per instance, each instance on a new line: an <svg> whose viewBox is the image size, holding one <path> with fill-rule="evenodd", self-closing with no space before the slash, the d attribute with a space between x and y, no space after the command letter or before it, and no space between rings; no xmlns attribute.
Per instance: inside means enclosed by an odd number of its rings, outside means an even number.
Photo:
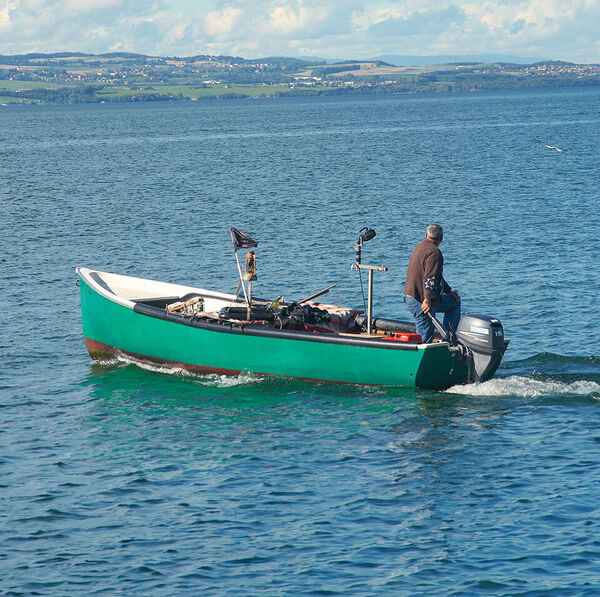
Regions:
<svg viewBox="0 0 600 597"><path fill-rule="evenodd" d="M331 93L416 93L600 85L600 65L329 64L294 58L112 53L0 56L0 103L197 100Z"/></svg>

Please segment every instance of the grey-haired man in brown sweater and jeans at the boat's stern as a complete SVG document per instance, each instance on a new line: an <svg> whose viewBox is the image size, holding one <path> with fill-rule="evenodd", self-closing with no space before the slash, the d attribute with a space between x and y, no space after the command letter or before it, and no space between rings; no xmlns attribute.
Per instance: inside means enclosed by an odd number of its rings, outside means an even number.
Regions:
<svg viewBox="0 0 600 597"><path fill-rule="evenodd" d="M443 313L447 331L456 331L460 321L460 296L444 280L444 256L438 248L443 238L441 226L428 226L425 240L415 247L406 272L404 300L423 342L433 340L434 327L428 313Z"/></svg>

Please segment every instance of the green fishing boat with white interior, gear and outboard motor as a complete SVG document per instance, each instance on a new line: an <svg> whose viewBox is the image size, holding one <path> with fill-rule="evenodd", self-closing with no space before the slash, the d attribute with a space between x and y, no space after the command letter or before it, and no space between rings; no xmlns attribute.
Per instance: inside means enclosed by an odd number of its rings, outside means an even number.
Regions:
<svg viewBox="0 0 600 597"><path fill-rule="evenodd" d="M494 375L507 345L497 319L464 316L455 337L440 328L424 344L414 324L373 317L372 273L385 268L357 261L369 270L367 316L315 302L329 288L298 302L252 299L252 259L244 273L238 260L243 296L78 268L85 343L94 359L199 374L428 389Z"/></svg>

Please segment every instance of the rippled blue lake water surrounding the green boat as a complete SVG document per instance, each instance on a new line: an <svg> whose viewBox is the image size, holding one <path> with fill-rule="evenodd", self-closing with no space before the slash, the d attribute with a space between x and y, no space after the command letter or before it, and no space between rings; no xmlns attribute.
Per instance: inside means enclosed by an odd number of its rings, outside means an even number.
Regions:
<svg viewBox="0 0 600 597"><path fill-rule="evenodd" d="M600 594L600 89L0 109L0 594ZM563 149L559 152L546 145ZM447 392L93 364L75 267L399 299L427 224L511 338Z"/></svg>

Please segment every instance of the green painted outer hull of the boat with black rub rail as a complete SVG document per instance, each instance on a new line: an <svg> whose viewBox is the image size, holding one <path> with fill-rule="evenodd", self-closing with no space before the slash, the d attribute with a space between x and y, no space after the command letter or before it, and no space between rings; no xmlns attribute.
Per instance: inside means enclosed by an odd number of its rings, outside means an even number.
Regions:
<svg viewBox="0 0 600 597"><path fill-rule="evenodd" d="M249 372L304 380L444 389L467 381L459 352L447 343L356 341L338 334L269 333L243 325L198 327L140 313L98 292L80 273L83 334L90 355L122 352L200 373ZM158 311L158 310L156 310Z"/></svg>

